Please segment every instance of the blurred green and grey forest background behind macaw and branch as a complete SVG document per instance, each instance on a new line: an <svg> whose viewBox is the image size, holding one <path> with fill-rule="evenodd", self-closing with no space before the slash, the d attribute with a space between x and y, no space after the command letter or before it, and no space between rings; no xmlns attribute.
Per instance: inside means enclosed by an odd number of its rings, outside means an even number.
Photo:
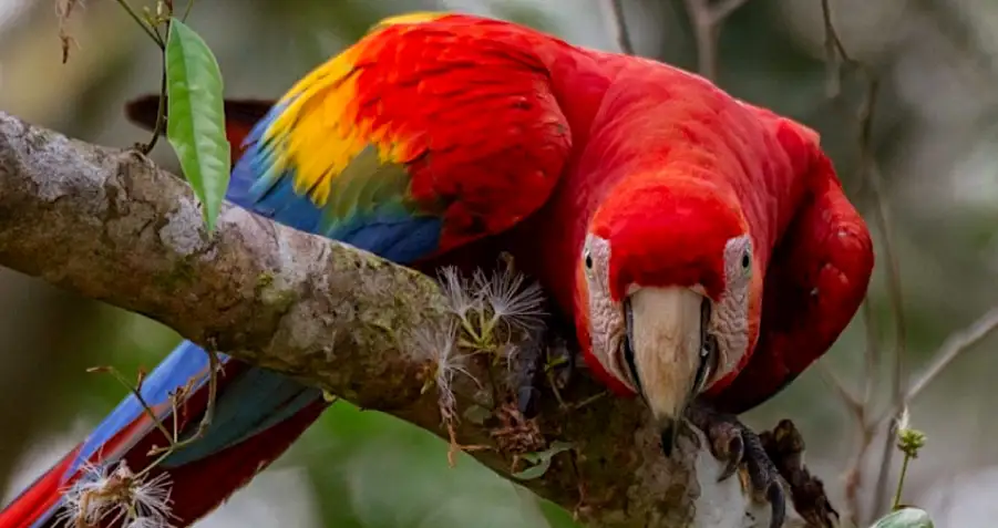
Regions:
<svg viewBox="0 0 998 528"><path fill-rule="evenodd" d="M113 146L146 139L122 105L155 91L160 52L110 0L90 0L65 31L61 63L53 0L0 0L0 110L74 137ZM133 4L152 0L133 0ZM998 3L970 0L835 0L840 37L873 69L882 90L868 143L879 167L899 267L905 377L917 376L945 338L998 302ZM696 69L681 0L624 0L637 53ZM230 96L276 97L378 19L410 10L460 10L515 20L574 43L617 48L601 0L198 0L188 20L218 58ZM827 95L819 0L749 0L723 25L718 83L817 130L851 197L872 227L876 186L857 174L862 79ZM153 157L177 172L166 142ZM807 463L833 504L846 509L845 477L860 429L822 369L853 393L874 372L875 412L885 408L898 339L888 296L884 237L871 290L875 323L857 317L834 350L789 390L748 415L757 427L793 418ZM867 338L873 338L873 343ZM0 269L0 505L79 442L124 395L110 377L152 367L179 338L141 315ZM998 339L961 354L913 402L928 435L905 501L936 526L990 527L998 516ZM328 424L348 422L333 434ZM343 433L348 431L349 434ZM860 518L870 519L883 433L860 466ZM295 447L198 524L227 527L573 526L528 494L464 457L449 469L433 435L338 404ZM896 473L894 457L892 473ZM893 493L896 479L888 488Z"/></svg>

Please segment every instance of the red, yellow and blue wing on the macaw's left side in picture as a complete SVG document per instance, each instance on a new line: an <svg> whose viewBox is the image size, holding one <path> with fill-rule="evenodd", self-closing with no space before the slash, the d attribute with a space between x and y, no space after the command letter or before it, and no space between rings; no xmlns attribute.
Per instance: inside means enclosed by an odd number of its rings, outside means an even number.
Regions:
<svg viewBox="0 0 998 528"><path fill-rule="evenodd" d="M519 31L447 14L382 23L257 123L229 199L402 263L512 227L572 148Z"/></svg>

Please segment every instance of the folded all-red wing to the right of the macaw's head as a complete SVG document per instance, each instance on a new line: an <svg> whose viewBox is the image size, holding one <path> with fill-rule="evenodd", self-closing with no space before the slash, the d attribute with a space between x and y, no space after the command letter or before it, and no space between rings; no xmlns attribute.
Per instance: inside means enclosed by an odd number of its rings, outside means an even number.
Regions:
<svg viewBox="0 0 998 528"><path fill-rule="evenodd" d="M782 391L827 352L866 296L870 231L813 145L809 190L766 270L755 351L728 387L710 395L726 412L743 413Z"/></svg>

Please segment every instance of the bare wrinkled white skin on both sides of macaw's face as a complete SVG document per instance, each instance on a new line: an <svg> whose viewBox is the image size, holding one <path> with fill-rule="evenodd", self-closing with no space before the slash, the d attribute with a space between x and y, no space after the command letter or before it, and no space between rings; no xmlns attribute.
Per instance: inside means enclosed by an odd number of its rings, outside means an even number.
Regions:
<svg viewBox="0 0 998 528"><path fill-rule="evenodd" d="M609 261L610 245L606 239L589 235L583 247L582 258L586 269L586 281L589 291L589 323L593 355L614 377L625 386L639 392L636 387L623 354L623 340L627 332L624 304L610 298ZM749 346L749 289L752 282L752 241L749 235L734 237L724 245L724 292L719 302L711 307L711 317L707 330L718 342L718 363L703 383L701 391L729 374L745 355ZM632 296L640 290L640 284L629 287L627 294ZM689 288L701 296L704 288L695 284ZM702 345L702 343L701 343ZM663 355L667 352L663 351ZM697 352L683 352L697 353ZM697 359L681 358L692 364ZM687 363L687 361L682 361ZM661 380L665 382L666 380ZM647 385L652 380L642 380ZM671 381L670 381L671 382Z"/></svg>

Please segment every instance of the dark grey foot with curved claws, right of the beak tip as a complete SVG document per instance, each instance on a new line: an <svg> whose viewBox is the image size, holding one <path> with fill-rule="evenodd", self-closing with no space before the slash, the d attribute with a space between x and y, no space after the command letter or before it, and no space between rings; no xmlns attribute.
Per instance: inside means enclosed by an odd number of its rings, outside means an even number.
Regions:
<svg viewBox="0 0 998 528"><path fill-rule="evenodd" d="M718 482L731 477L744 464L752 490L764 496L772 506L770 527L783 526L786 518L786 494L780 470L770 459L759 435L737 416L720 413L702 402L690 405L687 418L707 436L711 453L718 459L727 462Z"/></svg>

